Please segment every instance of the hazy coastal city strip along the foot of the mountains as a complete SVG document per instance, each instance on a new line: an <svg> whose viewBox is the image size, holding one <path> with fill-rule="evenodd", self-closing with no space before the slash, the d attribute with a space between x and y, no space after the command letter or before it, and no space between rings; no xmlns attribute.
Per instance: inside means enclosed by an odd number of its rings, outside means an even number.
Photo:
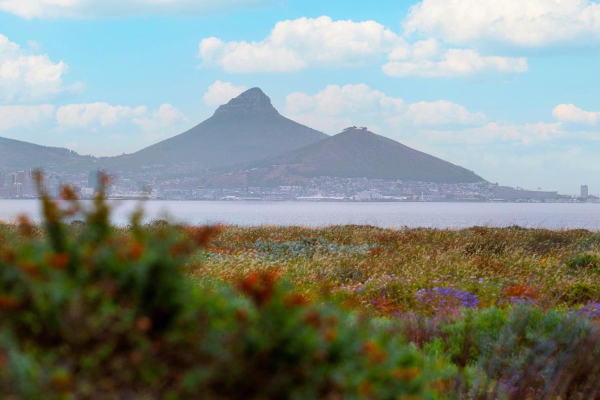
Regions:
<svg viewBox="0 0 600 400"><path fill-rule="evenodd" d="M43 188L52 198L61 196L64 185L81 199L91 199L100 190L102 169L80 174L47 173ZM336 178L319 176L305 185L272 187L218 188L198 184L197 179L164 179L141 174L109 175L106 196L130 200L226 200L226 201L452 201L452 202L529 202L600 203L589 194L587 185L580 193L559 194L552 190L525 190L497 183L475 182L442 184L438 182L390 181L373 178ZM38 185L34 169L0 172L0 199L35 199Z"/></svg>

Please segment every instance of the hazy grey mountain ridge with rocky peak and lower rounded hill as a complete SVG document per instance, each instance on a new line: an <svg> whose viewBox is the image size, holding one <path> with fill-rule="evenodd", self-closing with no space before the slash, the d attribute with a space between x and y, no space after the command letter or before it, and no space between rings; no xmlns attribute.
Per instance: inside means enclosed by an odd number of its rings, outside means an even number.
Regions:
<svg viewBox="0 0 600 400"><path fill-rule="evenodd" d="M95 158L0 138L0 168L44 167L68 172L106 167L139 172L202 175L206 170L256 168L253 182L289 182L314 176L400 179L441 183L482 182L475 173L366 128L333 137L285 118L260 89L252 88L218 107L196 127L133 154ZM259 176L264 174L265 176ZM292 177L292 178L290 178ZM236 179L242 183L245 178Z"/></svg>

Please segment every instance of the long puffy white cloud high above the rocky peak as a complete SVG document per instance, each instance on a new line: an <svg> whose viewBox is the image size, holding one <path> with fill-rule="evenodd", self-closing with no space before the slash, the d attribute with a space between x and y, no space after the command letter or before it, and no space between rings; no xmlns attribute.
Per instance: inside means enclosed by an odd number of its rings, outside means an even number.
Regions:
<svg viewBox="0 0 600 400"><path fill-rule="evenodd" d="M275 24L262 41L205 38L199 56L229 73L298 71L311 66L355 67L377 61L401 38L375 21L333 21L328 16Z"/></svg>

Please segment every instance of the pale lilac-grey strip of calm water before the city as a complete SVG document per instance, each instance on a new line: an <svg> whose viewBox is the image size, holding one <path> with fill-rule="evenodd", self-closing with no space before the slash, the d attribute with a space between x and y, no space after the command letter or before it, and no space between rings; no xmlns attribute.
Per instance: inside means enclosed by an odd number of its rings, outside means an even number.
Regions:
<svg viewBox="0 0 600 400"><path fill-rule="evenodd" d="M145 220L188 224L305 225L370 224L379 227L461 228L473 225L600 230L600 204L566 203L359 203L303 201L110 200L112 221L125 225L138 206ZM88 204L89 203L85 203ZM0 200L0 220L25 214L40 220L37 200Z"/></svg>

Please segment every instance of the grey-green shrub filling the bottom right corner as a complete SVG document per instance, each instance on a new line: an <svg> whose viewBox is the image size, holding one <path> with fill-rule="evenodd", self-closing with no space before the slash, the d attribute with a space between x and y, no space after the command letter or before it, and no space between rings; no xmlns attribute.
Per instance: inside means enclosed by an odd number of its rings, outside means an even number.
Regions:
<svg viewBox="0 0 600 400"><path fill-rule="evenodd" d="M600 330L587 318L520 305L471 310L442 329L437 346L464 371L455 395L598 398Z"/></svg>

